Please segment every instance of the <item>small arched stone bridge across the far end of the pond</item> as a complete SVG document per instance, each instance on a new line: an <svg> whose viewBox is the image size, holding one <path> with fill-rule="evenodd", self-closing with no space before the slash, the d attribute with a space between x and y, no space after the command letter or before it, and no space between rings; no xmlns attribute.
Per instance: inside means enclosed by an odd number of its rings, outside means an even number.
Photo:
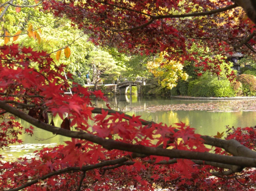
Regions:
<svg viewBox="0 0 256 191"><path fill-rule="evenodd" d="M128 87L130 87L130 95L132 94L132 86L137 86L138 93L140 94L141 86L146 85L147 78L143 77L136 77L136 78L122 78L120 80L117 80L117 88L120 92L120 94L126 94Z"/></svg>

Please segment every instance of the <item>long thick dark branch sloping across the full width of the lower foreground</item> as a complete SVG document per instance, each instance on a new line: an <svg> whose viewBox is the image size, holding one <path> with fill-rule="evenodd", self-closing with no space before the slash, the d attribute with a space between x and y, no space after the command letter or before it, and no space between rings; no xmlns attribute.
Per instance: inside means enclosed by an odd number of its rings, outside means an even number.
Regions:
<svg viewBox="0 0 256 191"><path fill-rule="evenodd" d="M118 142L111 139L103 139L96 135L92 135L86 132L77 132L77 131L70 131L67 129L61 129L52 125L48 125L43 123L33 117L30 117L26 113L19 111L7 103L0 101L0 108L10 112L11 114L16 115L20 119L23 119L36 127L50 131L55 134L60 134L65 137L77 138L87 140L96 144L103 146L103 148L112 150L122 150L128 152L134 152L139 154L146 154L146 155L157 155L162 157L169 157L169 158L180 158L180 159L191 159L191 160L203 160L203 161L210 161L210 162L218 162L223 164L231 164L231 165L238 165L242 167L256 167L256 159L248 158L248 157L236 157L236 156L226 156L226 155L219 155L213 154L208 152L195 152L195 151L186 151L186 150L178 150L178 149L161 149L156 147L147 147L143 145L134 145L124 142Z"/></svg>

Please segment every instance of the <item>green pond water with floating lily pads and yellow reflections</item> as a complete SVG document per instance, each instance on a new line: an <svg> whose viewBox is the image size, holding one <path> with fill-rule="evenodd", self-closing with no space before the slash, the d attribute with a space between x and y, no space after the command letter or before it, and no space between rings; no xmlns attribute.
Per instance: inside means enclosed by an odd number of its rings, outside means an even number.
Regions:
<svg viewBox="0 0 256 191"><path fill-rule="evenodd" d="M180 121L196 129L202 135L216 135L225 131L225 126L250 127L256 125L256 100L249 101L211 101L211 100L178 100L165 97L113 96L108 97L113 109L130 115L140 115L144 120L163 122L167 125ZM102 101L94 101L96 107L104 107ZM24 127L30 124L19 121ZM60 127L60 117L54 124ZM0 151L4 161L12 161L19 157L34 157L33 152L43 147L55 147L65 144L70 138L54 136L50 132L35 128L32 137L21 135L23 144L11 145Z"/></svg>

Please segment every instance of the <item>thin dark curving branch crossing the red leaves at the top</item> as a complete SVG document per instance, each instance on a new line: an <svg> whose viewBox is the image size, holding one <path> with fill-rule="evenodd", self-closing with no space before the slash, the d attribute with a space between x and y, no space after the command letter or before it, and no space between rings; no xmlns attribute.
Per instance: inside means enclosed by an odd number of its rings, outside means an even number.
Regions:
<svg viewBox="0 0 256 191"><path fill-rule="evenodd" d="M194 13L187 13L187 14L168 14L168 15L152 16L151 20L149 20L145 24L142 24L141 26L134 27L134 28L128 28L128 29L112 30L112 31L114 31L114 32L132 31L132 30L137 30L137 29L144 28L144 27L148 26L149 24L151 24L153 21L157 20L157 19L206 16L206 15L211 15L211 14L224 12L224 11L236 8L236 7L238 7L237 4L232 4L230 6L226 6L226 7L219 8L219 9L214 9L214 10L211 10L211 11L205 11L205 12L194 12Z"/></svg>

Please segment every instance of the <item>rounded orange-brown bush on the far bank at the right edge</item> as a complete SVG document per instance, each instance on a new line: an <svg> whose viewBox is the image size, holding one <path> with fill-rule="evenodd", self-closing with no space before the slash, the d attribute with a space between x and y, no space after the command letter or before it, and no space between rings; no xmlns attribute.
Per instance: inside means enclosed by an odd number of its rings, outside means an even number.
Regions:
<svg viewBox="0 0 256 191"><path fill-rule="evenodd" d="M237 80L242 83L244 96L256 96L256 77L250 74L241 74Z"/></svg>

